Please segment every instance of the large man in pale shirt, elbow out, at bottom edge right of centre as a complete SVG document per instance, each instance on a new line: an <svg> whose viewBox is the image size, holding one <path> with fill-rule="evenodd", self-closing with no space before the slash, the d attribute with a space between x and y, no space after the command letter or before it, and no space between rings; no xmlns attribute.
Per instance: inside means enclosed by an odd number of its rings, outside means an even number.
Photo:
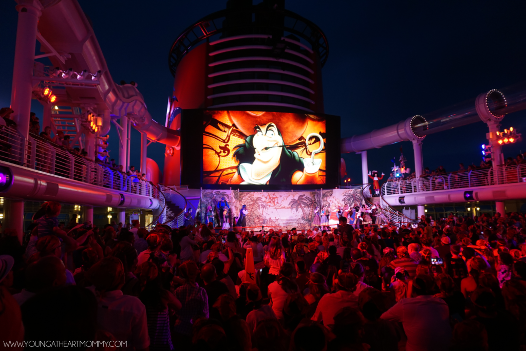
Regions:
<svg viewBox="0 0 526 351"><path fill-rule="evenodd" d="M381 318L402 322L407 335L407 351L447 350L451 339L449 307L444 300L433 297L434 281L428 275L413 280L412 298L402 298Z"/></svg>

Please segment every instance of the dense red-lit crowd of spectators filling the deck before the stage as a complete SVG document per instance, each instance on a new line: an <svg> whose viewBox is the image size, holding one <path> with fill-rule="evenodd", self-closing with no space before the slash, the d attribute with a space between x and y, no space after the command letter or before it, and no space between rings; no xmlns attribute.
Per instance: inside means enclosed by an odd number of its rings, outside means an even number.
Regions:
<svg viewBox="0 0 526 351"><path fill-rule="evenodd" d="M330 230L216 233L137 220L66 226L60 210L45 203L23 244L9 229L0 239L3 340L114 340L129 350L526 347L522 214L362 230L340 217Z"/></svg>

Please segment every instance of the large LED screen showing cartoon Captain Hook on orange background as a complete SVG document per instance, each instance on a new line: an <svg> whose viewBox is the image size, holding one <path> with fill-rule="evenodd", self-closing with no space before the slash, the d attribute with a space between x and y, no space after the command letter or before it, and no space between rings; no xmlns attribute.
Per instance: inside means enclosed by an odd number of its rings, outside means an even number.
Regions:
<svg viewBox="0 0 526 351"><path fill-rule="evenodd" d="M183 143L181 151L183 157L192 158L191 163L200 159L201 185L312 187L327 184L327 143L339 144L339 135L327 140L326 115L200 110L183 113L183 125L197 127L199 119L200 136L192 131L193 141ZM337 122L339 124L339 118ZM185 138L183 128L181 137ZM195 150L198 137L202 145L200 157ZM185 152L185 146L194 152ZM336 150L339 159L338 147ZM187 173L186 162L183 159L183 174ZM186 178L190 182L195 180L195 176Z"/></svg>

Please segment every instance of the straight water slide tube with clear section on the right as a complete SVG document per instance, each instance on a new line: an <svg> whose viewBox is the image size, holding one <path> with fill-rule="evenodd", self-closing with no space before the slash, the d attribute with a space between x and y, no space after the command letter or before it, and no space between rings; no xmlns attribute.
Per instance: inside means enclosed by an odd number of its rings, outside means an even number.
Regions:
<svg viewBox="0 0 526 351"><path fill-rule="evenodd" d="M484 106L485 105L485 106ZM487 111L497 119L526 109L526 83L493 89L477 98L424 115L416 115L391 126L343 138L341 152L360 152L404 141L418 141L429 134L485 120Z"/></svg>

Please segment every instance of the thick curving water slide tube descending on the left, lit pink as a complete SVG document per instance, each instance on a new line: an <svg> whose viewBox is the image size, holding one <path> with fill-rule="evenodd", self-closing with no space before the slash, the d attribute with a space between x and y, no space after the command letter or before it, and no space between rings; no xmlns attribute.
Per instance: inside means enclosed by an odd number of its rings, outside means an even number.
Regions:
<svg viewBox="0 0 526 351"><path fill-rule="evenodd" d="M45 41L65 58L63 63L56 56L50 56L53 65L62 69L73 67L74 71L78 70L77 72L83 69L87 69L89 73L101 71L98 94L90 94L94 89L75 88L78 101L86 104L95 103L99 109L109 108L111 114L116 116L127 115L128 118L133 118L132 125L146 133L149 139L169 146L178 146L180 142L178 132L158 124L151 118L143 95L135 86L115 84L92 25L77 0L42 1L42 3L50 3L50 6L44 5L46 8L42 11L38 30ZM52 53L52 49L44 44L41 51ZM78 93L79 89L82 95ZM73 91L73 89L69 90ZM106 134L109 128L110 117L109 114L105 114L101 134Z"/></svg>

